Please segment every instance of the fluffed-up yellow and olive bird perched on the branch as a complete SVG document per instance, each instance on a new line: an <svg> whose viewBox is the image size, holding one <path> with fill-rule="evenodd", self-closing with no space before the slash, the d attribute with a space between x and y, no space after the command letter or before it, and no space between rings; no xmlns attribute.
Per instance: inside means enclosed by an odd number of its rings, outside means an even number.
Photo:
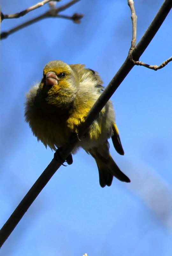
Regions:
<svg viewBox="0 0 172 256"><path fill-rule="evenodd" d="M99 74L83 64L53 60L43 69L41 81L26 93L25 120L32 133L47 148L60 149L72 134L78 134L90 109L101 95L104 87ZM115 123L115 112L109 100L97 115L90 128L66 159L72 164L72 154L83 148L96 161L99 183L103 188L111 186L113 177L122 182L130 179L119 169L109 152L108 139L115 150L124 150Z"/></svg>

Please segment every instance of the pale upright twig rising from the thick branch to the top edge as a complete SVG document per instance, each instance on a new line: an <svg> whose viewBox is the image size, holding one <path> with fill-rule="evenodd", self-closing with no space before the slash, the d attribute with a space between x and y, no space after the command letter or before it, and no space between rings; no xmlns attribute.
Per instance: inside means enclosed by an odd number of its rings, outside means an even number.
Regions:
<svg viewBox="0 0 172 256"><path fill-rule="evenodd" d="M131 9L131 19L132 19L132 27L133 27L133 35L132 35L132 42L131 42L131 47L129 50L129 53L131 53L136 45L136 37L137 37L137 16L135 13L135 9L134 9L134 2L133 0L128 0L128 5Z"/></svg>

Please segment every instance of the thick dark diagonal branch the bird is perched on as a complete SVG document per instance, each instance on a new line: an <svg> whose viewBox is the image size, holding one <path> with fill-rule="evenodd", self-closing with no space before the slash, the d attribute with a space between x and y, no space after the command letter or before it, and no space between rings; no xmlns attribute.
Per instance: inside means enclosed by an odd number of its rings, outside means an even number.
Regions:
<svg viewBox="0 0 172 256"><path fill-rule="evenodd" d="M152 38L161 27L162 22L165 20L168 12L172 8L172 0L165 0L162 4L159 12L155 16L154 20L148 27L147 31L140 39L139 43L133 50L133 56L135 59L139 59L142 53L146 50L147 46L151 42ZM125 79L126 75L133 68L134 63L131 61L130 54L127 56L125 62L118 70L117 74L113 77L109 85L104 89L104 92L98 98L92 109L90 110L85 122L82 124L78 136L81 138L86 130L90 127L92 122L94 121L97 114L102 110L104 105L110 99L112 94L116 91L120 83ZM78 136L74 134L70 137L69 142L65 144L61 151L59 151L59 155L61 159L66 159L70 152L73 150L78 141ZM41 190L47 184L47 182L54 175L56 170L61 166L61 163L57 162L55 159L51 161L45 171L40 175L38 180L34 183L32 188L17 206L15 211L12 213L10 218L6 221L2 229L0 230L0 246L5 242L5 240L9 237L13 229L16 227L18 222L21 220L25 212L31 206L32 202L37 198Z"/></svg>

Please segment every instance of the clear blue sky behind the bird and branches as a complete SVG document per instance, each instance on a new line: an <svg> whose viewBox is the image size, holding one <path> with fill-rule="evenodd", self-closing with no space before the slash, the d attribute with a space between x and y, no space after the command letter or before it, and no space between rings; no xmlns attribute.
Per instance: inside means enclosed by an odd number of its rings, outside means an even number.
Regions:
<svg viewBox="0 0 172 256"><path fill-rule="evenodd" d="M57 5L67 3L62 0ZM2 1L4 14L36 4ZM162 1L135 0L137 42ZM4 20L1 31L47 10ZM82 63L104 86L130 49L127 1L81 0L63 14L83 13L81 24L45 19L1 41L0 225L11 215L53 158L24 119L25 93L48 61ZM169 13L140 60L160 65L171 56ZM131 183L114 179L102 189L94 159L80 150L61 167L5 242L0 255L172 255L172 63L159 71L135 66L112 96L125 156L110 152Z"/></svg>

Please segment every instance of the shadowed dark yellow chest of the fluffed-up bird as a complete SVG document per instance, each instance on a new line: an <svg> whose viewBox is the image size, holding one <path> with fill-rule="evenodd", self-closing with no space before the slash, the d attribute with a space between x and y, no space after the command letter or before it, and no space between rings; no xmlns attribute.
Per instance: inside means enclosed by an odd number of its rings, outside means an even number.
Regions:
<svg viewBox="0 0 172 256"><path fill-rule="evenodd" d="M76 121L73 113L68 111L43 112L36 111L30 126L33 133L45 146L51 149L63 146L68 142L72 133L77 133L80 122Z"/></svg>

